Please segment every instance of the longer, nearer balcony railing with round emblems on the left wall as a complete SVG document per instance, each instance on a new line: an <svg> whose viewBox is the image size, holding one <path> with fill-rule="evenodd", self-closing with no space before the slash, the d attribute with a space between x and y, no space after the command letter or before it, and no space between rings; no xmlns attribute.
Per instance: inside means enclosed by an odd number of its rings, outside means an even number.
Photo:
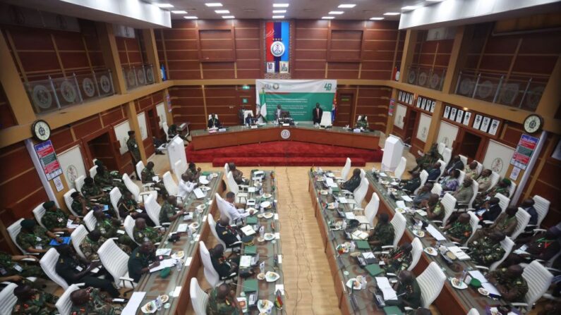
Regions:
<svg viewBox="0 0 561 315"><path fill-rule="evenodd" d="M111 70L25 83L35 113L56 111L115 93Z"/></svg>

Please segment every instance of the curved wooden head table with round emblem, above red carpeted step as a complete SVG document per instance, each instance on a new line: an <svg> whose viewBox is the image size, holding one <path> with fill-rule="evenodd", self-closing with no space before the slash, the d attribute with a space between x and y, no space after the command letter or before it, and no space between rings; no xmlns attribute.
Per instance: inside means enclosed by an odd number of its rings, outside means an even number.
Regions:
<svg viewBox="0 0 561 315"><path fill-rule="evenodd" d="M357 149L378 149L380 135L382 133L378 130L354 132L337 126L325 129L304 122L297 125L266 123L254 128L236 125L214 132L193 130L191 144L195 150L272 141L299 141Z"/></svg>

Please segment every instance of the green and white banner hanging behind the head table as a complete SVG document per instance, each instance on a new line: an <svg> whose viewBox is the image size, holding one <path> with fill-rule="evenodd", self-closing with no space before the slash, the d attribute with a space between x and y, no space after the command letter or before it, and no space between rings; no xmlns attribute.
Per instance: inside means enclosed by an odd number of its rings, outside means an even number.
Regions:
<svg viewBox="0 0 561 315"><path fill-rule="evenodd" d="M294 121L312 121L316 103L323 111L332 111L336 90L337 80L255 80L258 112L267 121L275 119L279 104Z"/></svg>

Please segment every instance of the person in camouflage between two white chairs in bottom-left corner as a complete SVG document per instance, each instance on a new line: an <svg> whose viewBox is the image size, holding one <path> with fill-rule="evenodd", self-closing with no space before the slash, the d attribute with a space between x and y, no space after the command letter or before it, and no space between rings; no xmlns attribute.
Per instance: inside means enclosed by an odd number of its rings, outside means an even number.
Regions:
<svg viewBox="0 0 561 315"><path fill-rule="evenodd" d="M13 295L18 297L18 302L13 306L12 314L59 314L59 311L54 307L59 298L49 293L35 290L30 285L18 285L13 290Z"/></svg>

